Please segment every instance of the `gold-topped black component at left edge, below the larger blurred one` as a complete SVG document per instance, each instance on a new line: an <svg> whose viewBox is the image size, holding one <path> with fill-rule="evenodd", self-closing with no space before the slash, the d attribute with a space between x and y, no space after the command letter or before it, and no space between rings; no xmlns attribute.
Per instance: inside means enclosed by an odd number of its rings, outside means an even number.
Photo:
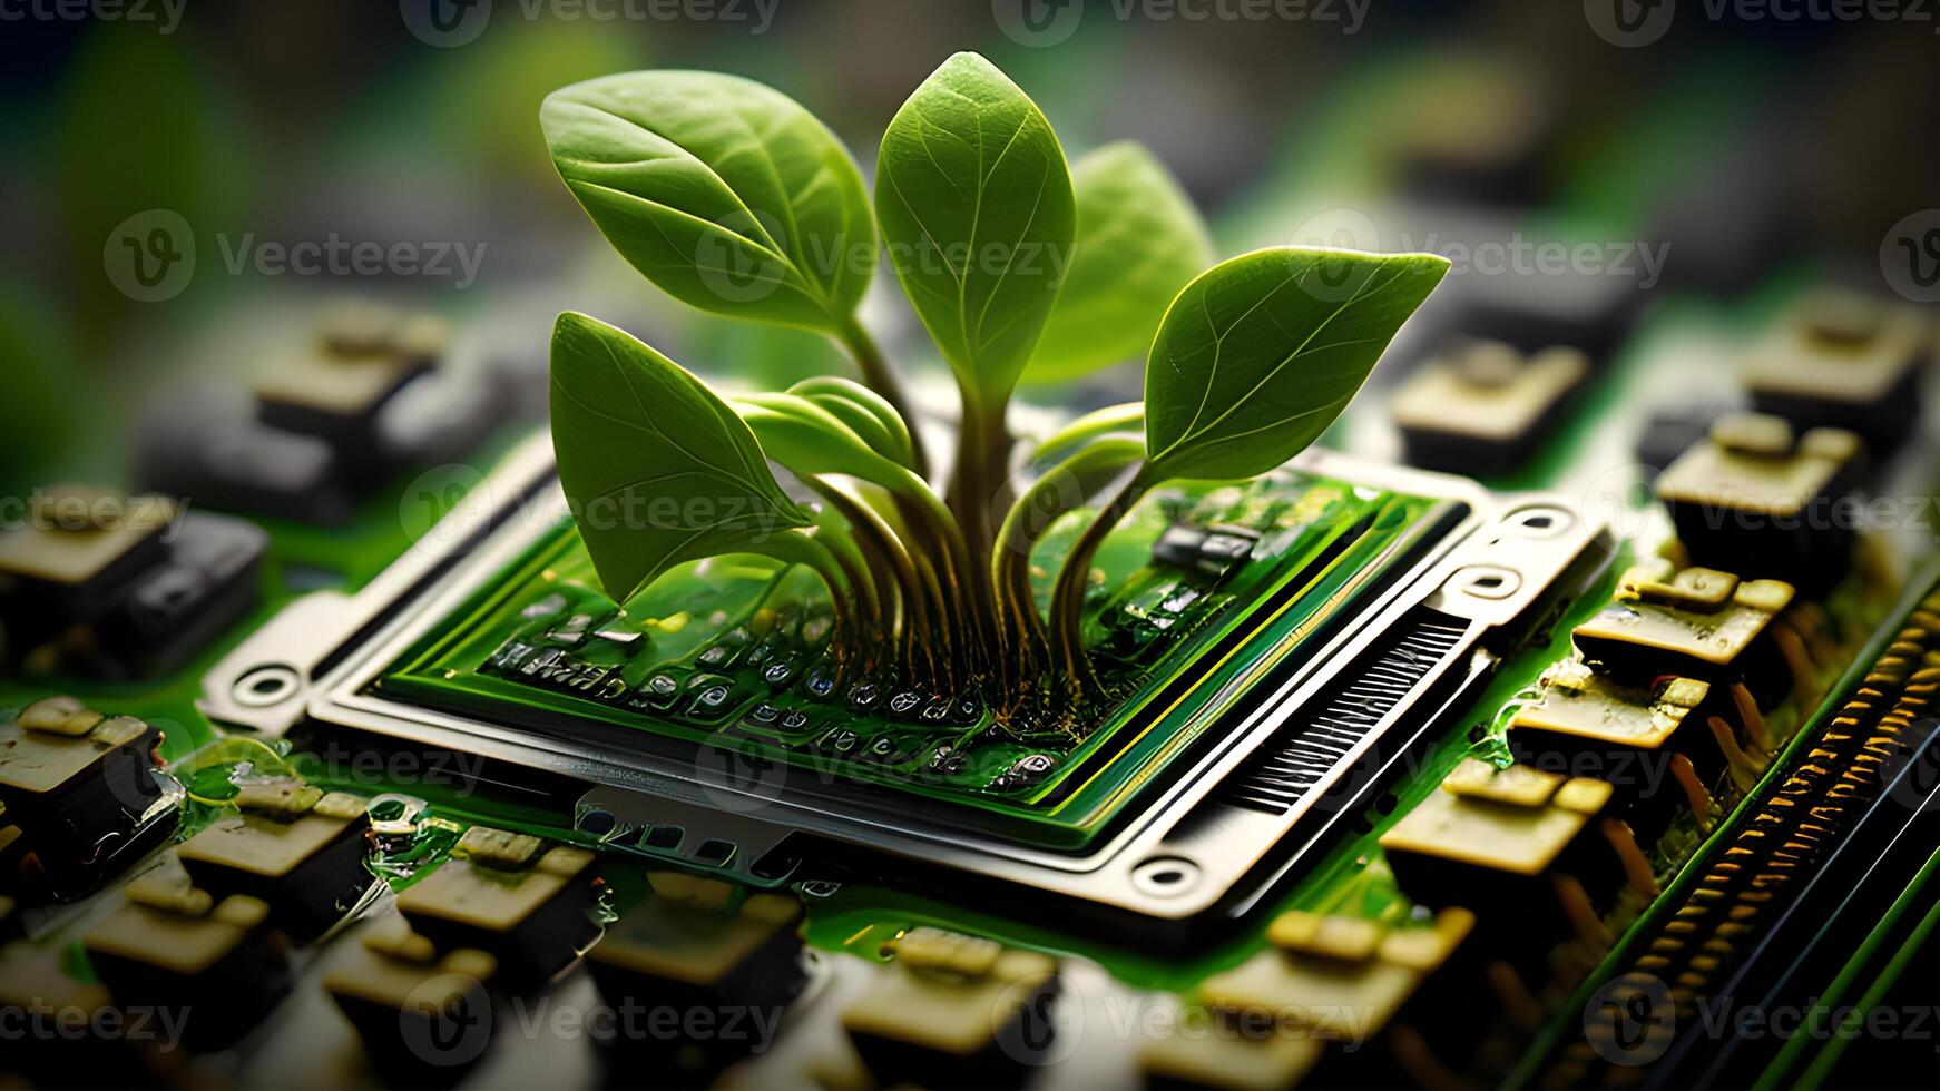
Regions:
<svg viewBox="0 0 1940 1091"><path fill-rule="evenodd" d="M8 882L80 897L173 831L159 752L159 729L74 698L45 698L0 725L0 808L21 847Z"/></svg>

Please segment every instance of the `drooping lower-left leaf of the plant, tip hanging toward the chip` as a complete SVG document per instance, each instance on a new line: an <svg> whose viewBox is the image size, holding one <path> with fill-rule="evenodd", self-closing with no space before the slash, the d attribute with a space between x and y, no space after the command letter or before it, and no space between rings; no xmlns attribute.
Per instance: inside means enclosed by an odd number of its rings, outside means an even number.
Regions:
<svg viewBox="0 0 1940 1091"><path fill-rule="evenodd" d="M720 397L584 314L553 326L553 450L599 583L621 603L675 564L813 521Z"/></svg>

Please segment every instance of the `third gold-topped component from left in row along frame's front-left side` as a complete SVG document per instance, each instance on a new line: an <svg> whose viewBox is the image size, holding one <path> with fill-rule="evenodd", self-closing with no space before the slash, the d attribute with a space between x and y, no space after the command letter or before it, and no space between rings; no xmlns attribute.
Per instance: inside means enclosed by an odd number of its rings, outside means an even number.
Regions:
<svg viewBox="0 0 1940 1091"><path fill-rule="evenodd" d="M537 988L599 936L594 855L473 826L452 858L398 895L411 930L440 951L477 948L510 990Z"/></svg>

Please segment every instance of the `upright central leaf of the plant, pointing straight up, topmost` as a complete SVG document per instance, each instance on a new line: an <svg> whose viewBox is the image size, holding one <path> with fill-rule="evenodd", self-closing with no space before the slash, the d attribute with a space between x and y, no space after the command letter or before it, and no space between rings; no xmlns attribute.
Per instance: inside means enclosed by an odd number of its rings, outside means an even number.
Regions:
<svg viewBox="0 0 1940 1091"><path fill-rule="evenodd" d="M974 407L1017 386L1057 300L1077 231L1051 124L974 52L943 62L877 153L889 260Z"/></svg>

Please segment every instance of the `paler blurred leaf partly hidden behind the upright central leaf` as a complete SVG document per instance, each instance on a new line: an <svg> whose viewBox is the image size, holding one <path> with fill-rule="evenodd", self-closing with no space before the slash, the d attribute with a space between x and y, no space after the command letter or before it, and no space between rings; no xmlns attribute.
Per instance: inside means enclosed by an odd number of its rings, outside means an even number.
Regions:
<svg viewBox="0 0 1940 1091"><path fill-rule="evenodd" d="M1199 209L1145 145L1081 157L1071 186L1077 250L1024 382L1067 382L1143 357L1166 304L1212 264Z"/></svg>

